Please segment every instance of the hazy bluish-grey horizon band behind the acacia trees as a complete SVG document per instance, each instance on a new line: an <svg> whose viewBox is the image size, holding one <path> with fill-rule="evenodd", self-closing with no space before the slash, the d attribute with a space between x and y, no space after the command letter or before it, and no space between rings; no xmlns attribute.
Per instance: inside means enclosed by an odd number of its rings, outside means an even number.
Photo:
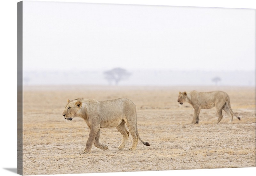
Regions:
<svg viewBox="0 0 256 176"><path fill-rule="evenodd" d="M115 85L106 79L107 70L24 71L24 85ZM173 85L223 85L255 86L255 71L176 71L176 70L126 70L130 75L118 85L173 86ZM214 82L212 79L218 77Z"/></svg>

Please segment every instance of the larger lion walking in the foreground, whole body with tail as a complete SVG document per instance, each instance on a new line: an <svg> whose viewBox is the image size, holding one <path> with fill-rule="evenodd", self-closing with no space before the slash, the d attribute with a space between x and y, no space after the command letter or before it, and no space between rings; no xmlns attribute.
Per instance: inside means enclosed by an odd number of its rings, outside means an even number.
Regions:
<svg viewBox="0 0 256 176"><path fill-rule="evenodd" d="M129 150L136 150L138 139L146 146L148 142L140 139L137 129L137 114L135 104L126 98L119 98L106 101L94 99L74 99L68 100L62 115L67 121L72 121L74 117L84 119L90 129L89 137L86 142L84 153L91 153L92 144L95 147L107 150L108 146L100 143L100 128L115 128L123 135L122 143L118 146L119 150L124 149L129 137L132 135L132 146Z"/></svg>

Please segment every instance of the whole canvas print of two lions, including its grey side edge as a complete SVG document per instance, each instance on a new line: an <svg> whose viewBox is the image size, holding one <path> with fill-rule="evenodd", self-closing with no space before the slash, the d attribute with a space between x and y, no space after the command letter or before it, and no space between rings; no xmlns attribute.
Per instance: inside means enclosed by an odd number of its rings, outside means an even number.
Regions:
<svg viewBox="0 0 256 176"><path fill-rule="evenodd" d="M255 167L255 9L17 5L19 174Z"/></svg>

